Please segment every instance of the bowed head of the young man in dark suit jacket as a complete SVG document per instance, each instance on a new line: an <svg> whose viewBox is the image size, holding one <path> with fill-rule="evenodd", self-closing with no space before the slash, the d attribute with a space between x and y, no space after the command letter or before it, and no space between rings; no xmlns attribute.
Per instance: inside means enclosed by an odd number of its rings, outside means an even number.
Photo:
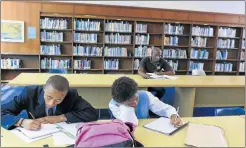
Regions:
<svg viewBox="0 0 246 148"><path fill-rule="evenodd" d="M60 104L69 89L69 82L60 75L51 76L44 86L44 101L48 108Z"/></svg>

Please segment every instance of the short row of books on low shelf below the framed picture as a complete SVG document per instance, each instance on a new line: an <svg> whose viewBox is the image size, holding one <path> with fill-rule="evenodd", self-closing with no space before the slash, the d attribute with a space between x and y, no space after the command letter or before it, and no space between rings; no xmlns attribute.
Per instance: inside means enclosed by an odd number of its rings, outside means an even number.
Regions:
<svg viewBox="0 0 246 148"><path fill-rule="evenodd" d="M18 69L21 68L20 59L1 59L1 69Z"/></svg>

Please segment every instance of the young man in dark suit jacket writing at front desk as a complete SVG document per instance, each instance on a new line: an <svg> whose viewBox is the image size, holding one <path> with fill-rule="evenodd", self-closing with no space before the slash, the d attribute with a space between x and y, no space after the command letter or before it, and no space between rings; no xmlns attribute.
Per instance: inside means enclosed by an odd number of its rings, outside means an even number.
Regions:
<svg viewBox="0 0 246 148"><path fill-rule="evenodd" d="M22 93L2 105L1 122L5 129L21 126L39 130L41 124L58 122L89 122L98 119L96 110L66 78L51 76L43 86L26 86Z"/></svg>

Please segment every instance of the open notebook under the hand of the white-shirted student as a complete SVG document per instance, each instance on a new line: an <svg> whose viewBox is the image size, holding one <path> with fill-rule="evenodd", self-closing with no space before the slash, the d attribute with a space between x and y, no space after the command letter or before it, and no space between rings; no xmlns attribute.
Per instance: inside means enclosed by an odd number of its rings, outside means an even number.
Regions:
<svg viewBox="0 0 246 148"><path fill-rule="evenodd" d="M160 132L166 135L173 135L174 133L178 132L182 128L184 128L188 123L185 123L181 127L175 127L174 125L171 124L170 119L160 117L148 124L145 124L144 127L148 128L150 130Z"/></svg>

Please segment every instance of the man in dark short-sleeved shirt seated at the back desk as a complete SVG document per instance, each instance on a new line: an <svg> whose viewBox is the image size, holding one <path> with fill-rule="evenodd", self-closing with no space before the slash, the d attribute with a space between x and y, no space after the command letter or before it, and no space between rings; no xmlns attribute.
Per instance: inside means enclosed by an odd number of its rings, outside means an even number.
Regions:
<svg viewBox="0 0 246 148"><path fill-rule="evenodd" d="M147 73L155 73L157 75L175 75L173 68L169 63L161 58L161 50L154 47L151 51L150 57L145 57L141 60L138 74L145 79L149 79L150 75ZM162 87L150 87L149 91L156 92L159 99L165 94L165 88Z"/></svg>

